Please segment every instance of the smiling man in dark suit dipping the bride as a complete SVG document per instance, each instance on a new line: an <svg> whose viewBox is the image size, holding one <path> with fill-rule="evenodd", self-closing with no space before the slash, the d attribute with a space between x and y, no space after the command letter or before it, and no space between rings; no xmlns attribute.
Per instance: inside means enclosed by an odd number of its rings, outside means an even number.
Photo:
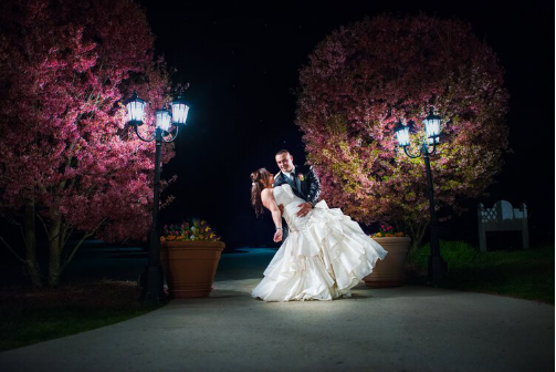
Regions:
<svg viewBox="0 0 556 372"><path fill-rule="evenodd" d="M281 149L275 156L280 172L274 176L274 187L283 184L292 186L293 193L305 203L300 204L297 216L305 217L315 207L321 195L321 183L312 166L293 164L293 156L287 149Z"/></svg>

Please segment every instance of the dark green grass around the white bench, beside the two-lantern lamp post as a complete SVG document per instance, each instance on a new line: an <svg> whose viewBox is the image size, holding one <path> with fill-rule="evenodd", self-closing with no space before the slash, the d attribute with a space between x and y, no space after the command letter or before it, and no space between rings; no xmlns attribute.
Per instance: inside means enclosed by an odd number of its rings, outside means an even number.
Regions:
<svg viewBox="0 0 556 372"><path fill-rule="evenodd" d="M409 254L409 281L423 283L430 247ZM480 251L462 241L441 241L449 277L439 287L496 293L554 304L554 242L526 250Z"/></svg>

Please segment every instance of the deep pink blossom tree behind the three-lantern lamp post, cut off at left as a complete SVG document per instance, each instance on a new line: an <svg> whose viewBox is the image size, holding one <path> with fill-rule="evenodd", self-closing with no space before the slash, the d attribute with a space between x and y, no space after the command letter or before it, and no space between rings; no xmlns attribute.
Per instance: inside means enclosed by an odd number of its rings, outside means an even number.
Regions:
<svg viewBox="0 0 556 372"><path fill-rule="evenodd" d="M40 287L43 226L46 282L57 286L87 237L145 237L155 146L125 126L123 100L136 90L161 106L168 73L130 0L10 0L0 24L0 211L21 230L23 249L0 239ZM170 147L162 161L172 155ZM82 239L69 246L73 231Z"/></svg>

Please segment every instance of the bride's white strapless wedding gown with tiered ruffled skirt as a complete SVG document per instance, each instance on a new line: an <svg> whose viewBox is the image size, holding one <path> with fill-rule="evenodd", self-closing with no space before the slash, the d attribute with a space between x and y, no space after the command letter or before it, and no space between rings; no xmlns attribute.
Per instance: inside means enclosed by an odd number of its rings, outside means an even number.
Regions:
<svg viewBox="0 0 556 372"><path fill-rule="evenodd" d="M297 217L305 200L287 184L274 188L290 228L263 280L251 296L264 301L332 300L349 297L350 289L373 271L386 250L340 209L317 203L306 217Z"/></svg>

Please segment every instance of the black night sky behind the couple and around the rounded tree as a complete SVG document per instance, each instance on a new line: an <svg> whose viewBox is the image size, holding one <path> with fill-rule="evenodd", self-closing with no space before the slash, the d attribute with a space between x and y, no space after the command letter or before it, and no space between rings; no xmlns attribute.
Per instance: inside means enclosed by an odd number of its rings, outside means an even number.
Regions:
<svg viewBox="0 0 556 372"><path fill-rule="evenodd" d="M384 12L424 12L469 21L505 71L511 94L507 124L513 153L504 157L499 183L480 198L526 203L532 238L554 239L555 9L554 1L526 6L487 1L342 1L334 6L259 8L139 1L156 35L156 53L177 69L174 82L190 83L190 116L177 140L176 157L162 177L177 174L176 196L165 223L206 218L230 248L274 246L269 217L250 208L249 174L276 172L274 154L287 148L303 164L302 133L294 125L298 70L315 45L340 25ZM271 2L264 2L271 3ZM478 200L469 200L474 208ZM440 216L442 217L442 216ZM441 226L444 238L476 235L474 209Z"/></svg>

